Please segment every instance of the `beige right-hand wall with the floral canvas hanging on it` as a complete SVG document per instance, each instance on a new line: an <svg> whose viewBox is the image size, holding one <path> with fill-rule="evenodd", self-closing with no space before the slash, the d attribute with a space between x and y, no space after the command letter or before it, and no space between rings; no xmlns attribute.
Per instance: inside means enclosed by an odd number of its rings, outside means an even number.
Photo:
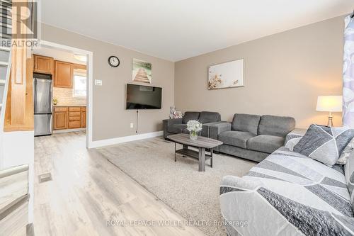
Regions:
<svg viewBox="0 0 354 236"><path fill-rule="evenodd" d="M297 127L326 124L319 95L342 94L343 17L314 23L175 64L175 104L182 111L293 116ZM244 58L244 87L207 90L212 64ZM341 124L336 113L334 124Z"/></svg>

